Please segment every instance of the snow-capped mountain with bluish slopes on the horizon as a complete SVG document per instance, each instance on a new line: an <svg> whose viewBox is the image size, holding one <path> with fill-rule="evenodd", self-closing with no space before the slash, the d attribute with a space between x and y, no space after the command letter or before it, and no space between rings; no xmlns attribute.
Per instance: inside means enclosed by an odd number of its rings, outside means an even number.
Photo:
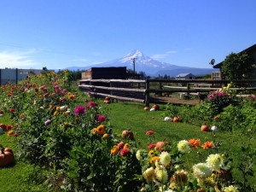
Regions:
<svg viewBox="0 0 256 192"><path fill-rule="evenodd" d="M175 77L179 73L193 73L198 74L208 74L216 69L212 68L195 68L195 67L182 67L177 65L172 65L170 63L156 61L150 58L148 55L144 55L140 50L133 50L128 55L115 59L112 61L102 62L100 64L91 65L88 67L67 67L69 70L86 70L90 67L126 67L127 69L133 70L133 60L135 59L135 70L137 72L145 72L149 76L159 76L159 75L170 75Z"/></svg>

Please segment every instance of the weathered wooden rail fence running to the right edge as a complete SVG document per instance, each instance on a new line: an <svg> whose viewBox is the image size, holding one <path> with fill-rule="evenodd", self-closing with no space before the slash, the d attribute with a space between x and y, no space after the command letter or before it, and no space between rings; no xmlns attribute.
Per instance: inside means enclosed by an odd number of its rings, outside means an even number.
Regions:
<svg viewBox="0 0 256 192"><path fill-rule="evenodd" d="M79 88L90 91L92 96L110 96L113 99L131 102L143 102L146 106L154 100L152 96L172 93L186 93L187 95L199 92L218 90L230 84L242 84L242 87L230 90L252 92L256 87L253 80L204 80L204 79L82 79ZM245 87L246 85L246 87Z"/></svg>

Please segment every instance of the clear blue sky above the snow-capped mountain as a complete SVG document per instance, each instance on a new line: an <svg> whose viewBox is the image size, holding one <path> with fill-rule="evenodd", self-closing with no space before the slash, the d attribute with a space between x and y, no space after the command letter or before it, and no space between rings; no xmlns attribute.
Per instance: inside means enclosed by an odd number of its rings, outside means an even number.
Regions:
<svg viewBox="0 0 256 192"><path fill-rule="evenodd" d="M255 0L1 0L0 68L63 69L140 49L211 67L256 44Z"/></svg>

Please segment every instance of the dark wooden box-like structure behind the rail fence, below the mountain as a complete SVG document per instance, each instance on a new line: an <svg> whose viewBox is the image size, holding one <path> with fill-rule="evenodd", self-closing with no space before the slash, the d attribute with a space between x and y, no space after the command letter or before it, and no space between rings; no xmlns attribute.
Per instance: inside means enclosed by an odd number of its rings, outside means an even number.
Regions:
<svg viewBox="0 0 256 192"><path fill-rule="evenodd" d="M83 79L126 79L126 67L91 67L82 73Z"/></svg>

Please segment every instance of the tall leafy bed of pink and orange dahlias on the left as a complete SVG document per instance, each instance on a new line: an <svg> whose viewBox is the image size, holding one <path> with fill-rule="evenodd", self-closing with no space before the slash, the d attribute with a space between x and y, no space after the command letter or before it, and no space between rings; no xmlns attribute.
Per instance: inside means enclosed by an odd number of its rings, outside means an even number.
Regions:
<svg viewBox="0 0 256 192"><path fill-rule="evenodd" d="M19 135L17 157L57 170L47 176L56 190L137 190L141 182L134 177L140 171L135 152L125 155L119 148L118 154L110 155L122 138L114 136L100 104L72 93L70 77L68 71L58 76L46 73L4 88L9 98L2 106Z"/></svg>

